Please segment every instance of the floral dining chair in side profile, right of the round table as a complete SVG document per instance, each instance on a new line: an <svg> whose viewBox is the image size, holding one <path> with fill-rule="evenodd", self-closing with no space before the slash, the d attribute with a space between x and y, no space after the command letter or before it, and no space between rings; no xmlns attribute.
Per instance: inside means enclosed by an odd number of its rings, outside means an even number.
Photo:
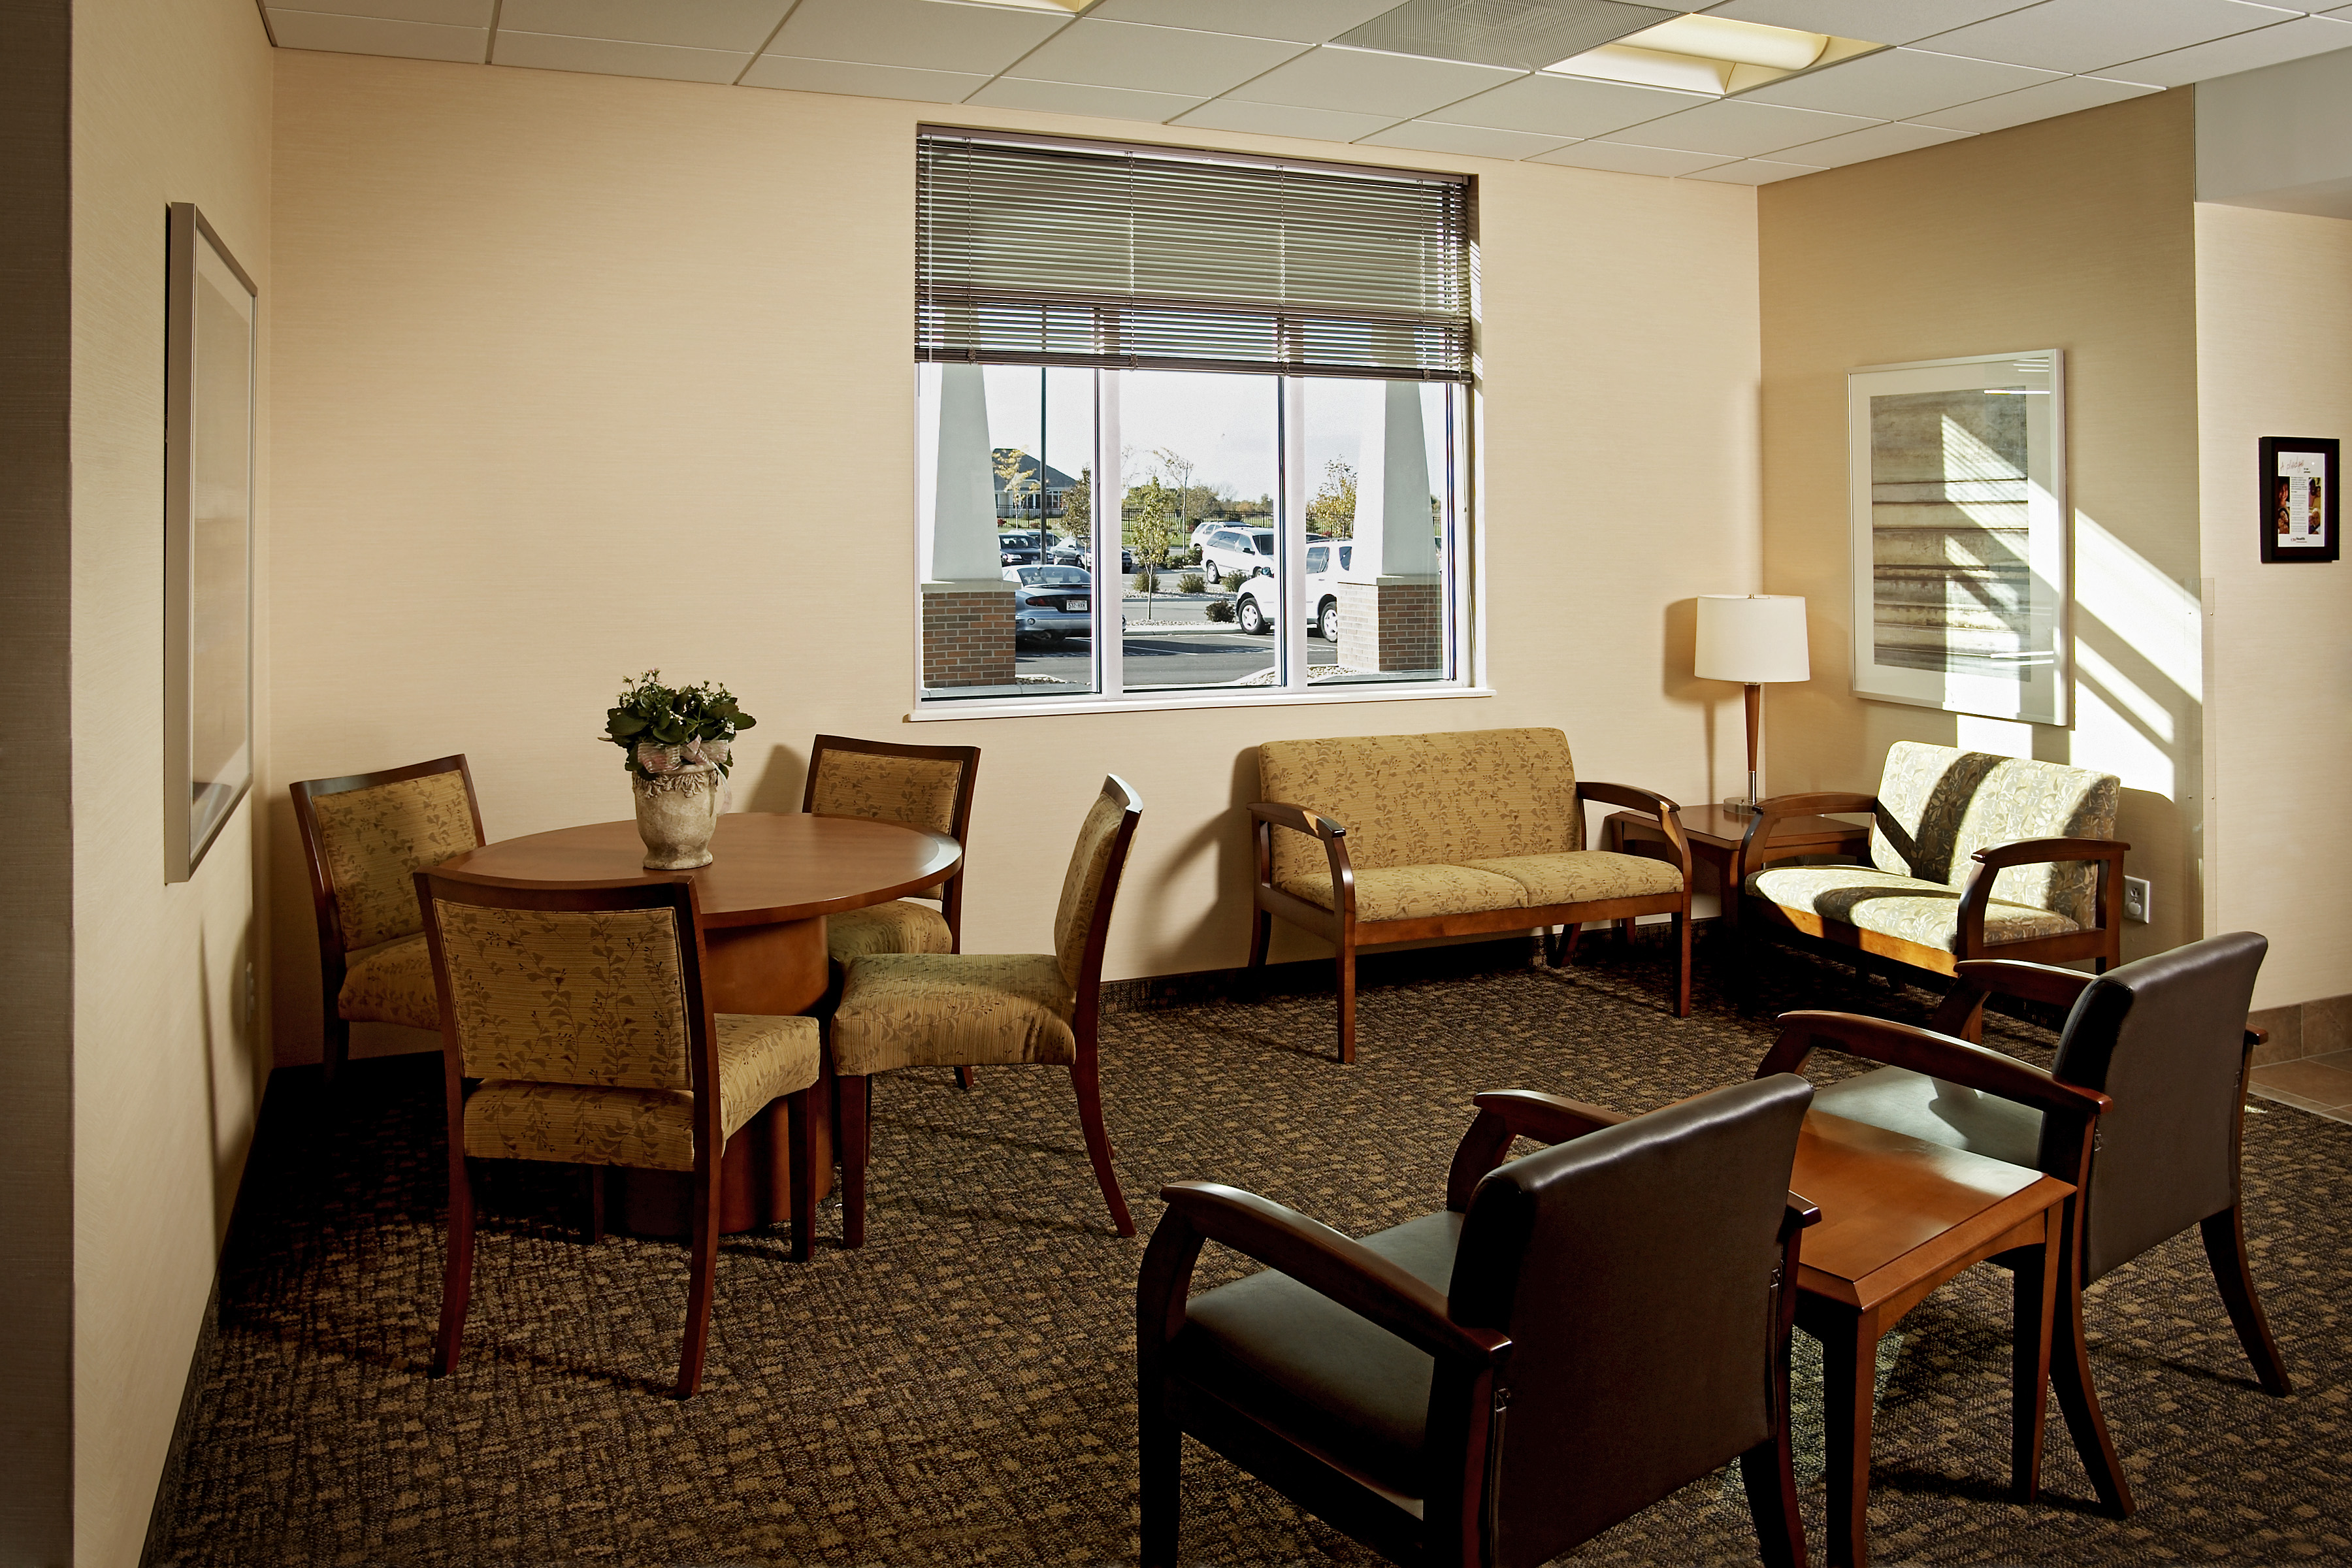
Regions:
<svg viewBox="0 0 2352 1568"><path fill-rule="evenodd" d="M1094 1180L1117 1232L1136 1234L1110 1168L1096 1032L1110 905L1141 818L1143 799L1127 780L1105 778L1061 882L1054 952L877 952L849 964L828 1025L840 1074L844 1246L866 1244L873 1079L896 1067L1068 1067Z"/></svg>

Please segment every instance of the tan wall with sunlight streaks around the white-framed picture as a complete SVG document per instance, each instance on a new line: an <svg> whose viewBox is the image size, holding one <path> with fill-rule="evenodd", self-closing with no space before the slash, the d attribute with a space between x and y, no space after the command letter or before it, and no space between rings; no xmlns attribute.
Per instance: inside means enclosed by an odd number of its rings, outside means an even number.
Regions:
<svg viewBox="0 0 2352 1568"><path fill-rule="evenodd" d="M2199 933L2197 334L2187 92L1764 186L1764 583L1811 602L1773 689L1773 790L1870 788L1893 741L2124 778L2138 957ZM1846 371L2063 348L2077 719L1994 726L1851 693Z"/></svg>

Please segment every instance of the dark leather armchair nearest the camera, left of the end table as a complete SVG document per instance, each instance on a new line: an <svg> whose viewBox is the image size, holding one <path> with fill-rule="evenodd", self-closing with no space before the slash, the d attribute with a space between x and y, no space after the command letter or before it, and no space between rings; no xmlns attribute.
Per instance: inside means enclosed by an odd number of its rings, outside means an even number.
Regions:
<svg viewBox="0 0 2352 1568"><path fill-rule="evenodd" d="M1362 1241L1174 1182L1136 1291L1143 1561L1176 1561L1190 1432L1399 1563L1543 1563L1740 1460L1764 1561L1804 1563L1788 1448L1811 1088L1639 1119L1477 1095L1446 1208ZM1505 1164L1515 1135L1555 1147ZM1265 1265L1188 1300L1204 1241Z"/></svg>

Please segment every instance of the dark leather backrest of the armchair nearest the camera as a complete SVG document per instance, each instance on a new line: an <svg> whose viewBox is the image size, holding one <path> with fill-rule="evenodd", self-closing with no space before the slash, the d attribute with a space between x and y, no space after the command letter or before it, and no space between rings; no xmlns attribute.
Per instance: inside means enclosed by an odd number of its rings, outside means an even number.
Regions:
<svg viewBox="0 0 2352 1568"><path fill-rule="evenodd" d="M1477 1185L1449 1312L1512 1340L1498 1566L1543 1563L1771 1436L1780 1225L1811 1100L1795 1074L1717 1088Z"/></svg>

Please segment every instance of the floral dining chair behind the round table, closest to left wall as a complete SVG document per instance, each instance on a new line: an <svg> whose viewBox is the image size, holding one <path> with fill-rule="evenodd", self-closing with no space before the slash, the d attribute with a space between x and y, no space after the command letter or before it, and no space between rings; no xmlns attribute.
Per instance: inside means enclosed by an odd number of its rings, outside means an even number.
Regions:
<svg viewBox="0 0 2352 1568"><path fill-rule="evenodd" d="M350 1025L440 1032L433 959L412 875L482 844L466 757L292 785L310 867L325 1077L350 1058Z"/></svg>

